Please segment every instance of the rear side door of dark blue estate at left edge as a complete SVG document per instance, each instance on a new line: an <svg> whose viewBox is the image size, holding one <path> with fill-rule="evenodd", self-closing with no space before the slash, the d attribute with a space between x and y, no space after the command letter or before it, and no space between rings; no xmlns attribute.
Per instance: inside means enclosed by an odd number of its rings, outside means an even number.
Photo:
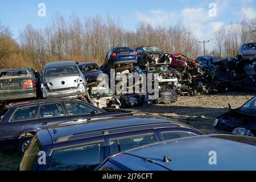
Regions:
<svg viewBox="0 0 256 182"><path fill-rule="evenodd" d="M69 116L61 102L41 104L39 107L36 129L42 129L59 122L68 122Z"/></svg>

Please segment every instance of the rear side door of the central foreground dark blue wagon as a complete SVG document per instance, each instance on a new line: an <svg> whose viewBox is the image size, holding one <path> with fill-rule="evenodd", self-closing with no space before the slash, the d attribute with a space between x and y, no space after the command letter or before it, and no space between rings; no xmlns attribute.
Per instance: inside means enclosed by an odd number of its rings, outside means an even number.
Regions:
<svg viewBox="0 0 256 182"><path fill-rule="evenodd" d="M154 129L105 135L105 157L156 142L160 139Z"/></svg>

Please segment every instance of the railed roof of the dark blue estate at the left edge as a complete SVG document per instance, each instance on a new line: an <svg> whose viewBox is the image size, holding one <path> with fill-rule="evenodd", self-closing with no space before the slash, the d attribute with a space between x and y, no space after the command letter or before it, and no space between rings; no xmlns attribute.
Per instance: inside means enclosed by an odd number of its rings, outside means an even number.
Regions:
<svg viewBox="0 0 256 182"><path fill-rule="evenodd" d="M52 102L63 102L63 101L77 101L82 102L81 100L76 100L75 98L51 98L51 99L42 99L42 100L32 100L32 101L22 101L22 102L13 102L7 105L7 108L11 107L23 107L23 106L31 106L38 104L47 104ZM88 103L85 103L88 104Z"/></svg>

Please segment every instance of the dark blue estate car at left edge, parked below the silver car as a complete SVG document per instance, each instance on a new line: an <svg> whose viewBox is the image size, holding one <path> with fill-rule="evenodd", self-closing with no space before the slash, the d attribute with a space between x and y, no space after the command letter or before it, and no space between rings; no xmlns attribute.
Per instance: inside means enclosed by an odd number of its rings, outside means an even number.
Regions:
<svg viewBox="0 0 256 182"><path fill-rule="evenodd" d="M88 122L102 117L116 117L118 114L121 113L107 112L68 98L17 102L6 106L1 114L0 148L16 149L22 154L39 129L59 122Z"/></svg>

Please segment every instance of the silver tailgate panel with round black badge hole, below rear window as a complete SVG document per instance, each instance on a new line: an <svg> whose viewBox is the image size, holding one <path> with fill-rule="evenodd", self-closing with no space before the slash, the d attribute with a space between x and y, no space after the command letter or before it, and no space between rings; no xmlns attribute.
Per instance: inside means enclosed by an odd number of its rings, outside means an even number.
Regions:
<svg viewBox="0 0 256 182"><path fill-rule="evenodd" d="M76 88L78 84L83 84L83 79L79 75L69 76L57 76L44 78L46 80L48 88L53 89L64 89L64 88Z"/></svg>

